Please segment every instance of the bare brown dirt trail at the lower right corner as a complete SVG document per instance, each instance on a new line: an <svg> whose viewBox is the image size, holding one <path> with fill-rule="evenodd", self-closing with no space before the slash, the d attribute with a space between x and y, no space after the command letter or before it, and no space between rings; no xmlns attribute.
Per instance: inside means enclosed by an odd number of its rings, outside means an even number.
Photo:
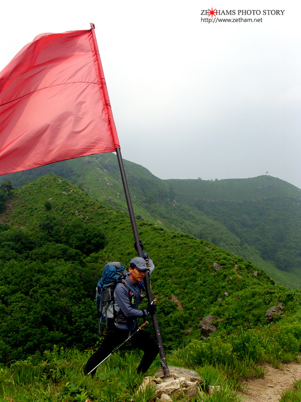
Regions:
<svg viewBox="0 0 301 402"><path fill-rule="evenodd" d="M278 402L282 392L293 389L293 380L301 380L301 364L290 362L277 369L264 364L264 378L255 378L243 384L244 392L240 392L244 402Z"/></svg>

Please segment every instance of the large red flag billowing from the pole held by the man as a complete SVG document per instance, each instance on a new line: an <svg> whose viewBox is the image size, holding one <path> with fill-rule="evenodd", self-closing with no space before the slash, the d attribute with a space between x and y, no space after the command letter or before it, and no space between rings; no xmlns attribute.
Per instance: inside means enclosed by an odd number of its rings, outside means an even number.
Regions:
<svg viewBox="0 0 301 402"><path fill-rule="evenodd" d="M0 175L115 148L94 27L41 34L0 73Z"/></svg>

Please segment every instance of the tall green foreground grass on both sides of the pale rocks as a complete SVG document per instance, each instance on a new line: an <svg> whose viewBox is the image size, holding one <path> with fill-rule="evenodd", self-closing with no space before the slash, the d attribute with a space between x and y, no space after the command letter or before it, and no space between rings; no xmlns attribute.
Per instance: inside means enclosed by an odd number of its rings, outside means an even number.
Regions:
<svg viewBox="0 0 301 402"><path fill-rule="evenodd" d="M297 360L301 325L281 322L273 326L240 330L231 336L212 335L206 341L194 340L188 346L167 352L169 365L196 370L203 378L197 402L236 402L241 380L262 377L261 362ZM5 402L146 402L154 390L139 391L143 375L136 373L139 351L121 350L97 369L94 378L84 376L83 367L91 350L80 352L55 346L42 355L36 353L23 361L0 367L0 401ZM153 375L160 367L157 357L149 369ZM210 394L208 391L215 387ZM183 397L181 400L185 400ZM281 402L301 400L300 382L293 391L282 394Z"/></svg>

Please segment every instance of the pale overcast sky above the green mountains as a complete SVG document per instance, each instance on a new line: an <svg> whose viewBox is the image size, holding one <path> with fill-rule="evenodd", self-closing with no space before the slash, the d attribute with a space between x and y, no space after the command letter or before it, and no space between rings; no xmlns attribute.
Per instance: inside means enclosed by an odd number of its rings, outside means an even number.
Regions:
<svg viewBox="0 0 301 402"><path fill-rule="evenodd" d="M1 8L0 70L40 33L95 24L124 159L163 179L268 171L301 188L299 3L29 0ZM262 20L208 23L201 14L211 8L232 10L218 18Z"/></svg>

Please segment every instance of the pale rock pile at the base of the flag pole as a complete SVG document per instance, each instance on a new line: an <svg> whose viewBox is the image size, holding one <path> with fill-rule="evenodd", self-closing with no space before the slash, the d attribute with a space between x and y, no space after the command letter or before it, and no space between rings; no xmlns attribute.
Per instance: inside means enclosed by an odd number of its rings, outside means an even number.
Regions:
<svg viewBox="0 0 301 402"><path fill-rule="evenodd" d="M182 367L169 366L170 377L165 378L163 369L158 370L154 377L145 377L140 390L150 384L155 388L154 401L169 402L179 398L195 398L201 392L200 386L203 384L202 378L196 371Z"/></svg>

